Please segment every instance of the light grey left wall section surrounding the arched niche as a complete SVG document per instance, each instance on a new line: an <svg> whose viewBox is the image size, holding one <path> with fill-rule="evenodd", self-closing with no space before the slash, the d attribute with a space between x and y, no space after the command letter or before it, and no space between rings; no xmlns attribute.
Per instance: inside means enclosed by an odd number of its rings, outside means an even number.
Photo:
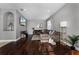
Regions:
<svg viewBox="0 0 79 59"><path fill-rule="evenodd" d="M4 24L4 14L6 12L12 12L14 14L14 31L4 31L3 24ZM14 9L0 9L0 40L9 40L9 39L16 39L16 11Z"/></svg>

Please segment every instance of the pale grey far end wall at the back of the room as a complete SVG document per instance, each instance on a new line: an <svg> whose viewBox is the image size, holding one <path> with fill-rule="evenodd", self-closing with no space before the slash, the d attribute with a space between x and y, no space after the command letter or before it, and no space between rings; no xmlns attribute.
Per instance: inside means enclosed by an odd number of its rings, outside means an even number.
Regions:
<svg viewBox="0 0 79 59"><path fill-rule="evenodd" d="M28 34L33 34L32 28L35 28L35 30L39 30L36 26L38 24L43 24L43 29L46 29L46 22L45 20L28 20L27 21L27 32Z"/></svg>

